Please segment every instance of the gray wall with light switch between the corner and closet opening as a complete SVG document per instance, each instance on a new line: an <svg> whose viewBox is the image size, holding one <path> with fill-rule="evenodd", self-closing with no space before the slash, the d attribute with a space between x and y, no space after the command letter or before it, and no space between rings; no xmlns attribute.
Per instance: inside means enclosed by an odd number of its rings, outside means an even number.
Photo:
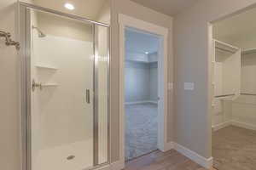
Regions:
<svg viewBox="0 0 256 170"><path fill-rule="evenodd" d="M174 18L175 141L206 158L212 156L208 23L255 3L256 0L200 0ZM184 91L184 82L195 82L195 90Z"/></svg>

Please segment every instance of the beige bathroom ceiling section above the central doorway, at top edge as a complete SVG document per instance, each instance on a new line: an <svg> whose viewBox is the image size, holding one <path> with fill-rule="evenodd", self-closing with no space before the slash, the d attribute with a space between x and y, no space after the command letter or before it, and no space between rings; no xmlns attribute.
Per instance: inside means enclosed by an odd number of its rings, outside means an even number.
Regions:
<svg viewBox="0 0 256 170"><path fill-rule="evenodd" d="M198 0L131 0L160 13L175 15Z"/></svg>

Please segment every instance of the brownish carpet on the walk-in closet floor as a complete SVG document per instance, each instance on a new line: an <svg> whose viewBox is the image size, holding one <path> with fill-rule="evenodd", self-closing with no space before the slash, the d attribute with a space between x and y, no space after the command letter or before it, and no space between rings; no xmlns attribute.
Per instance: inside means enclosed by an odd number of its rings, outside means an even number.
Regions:
<svg viewBox="0 0 256 170"><path fill-rule="evenodd" d="M256 170L256 131L229 126L212 133L213 167Z"/></svg>

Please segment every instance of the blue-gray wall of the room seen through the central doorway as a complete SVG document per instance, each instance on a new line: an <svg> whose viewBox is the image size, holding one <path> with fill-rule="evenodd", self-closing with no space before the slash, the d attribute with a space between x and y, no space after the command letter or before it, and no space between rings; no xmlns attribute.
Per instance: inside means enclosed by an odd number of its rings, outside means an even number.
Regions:
<svg viewBox="0 0 256 170"><path fill-rule="evenodd" d="M157 99L157 63L125 61L125 102Z"/></svg>

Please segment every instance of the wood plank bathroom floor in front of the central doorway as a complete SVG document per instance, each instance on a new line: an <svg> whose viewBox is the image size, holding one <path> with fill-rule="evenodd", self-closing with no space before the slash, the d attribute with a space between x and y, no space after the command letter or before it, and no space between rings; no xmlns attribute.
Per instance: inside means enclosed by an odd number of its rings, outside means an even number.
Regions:
<svg viewBox="0 0 256 170"><path fill-rule="evenodd" d="M156 150L146 156L128 161L124 170L207 170L204 167L189 160L176 150L165 153ZM211 169L214 170L214 169Z"/></svg>

